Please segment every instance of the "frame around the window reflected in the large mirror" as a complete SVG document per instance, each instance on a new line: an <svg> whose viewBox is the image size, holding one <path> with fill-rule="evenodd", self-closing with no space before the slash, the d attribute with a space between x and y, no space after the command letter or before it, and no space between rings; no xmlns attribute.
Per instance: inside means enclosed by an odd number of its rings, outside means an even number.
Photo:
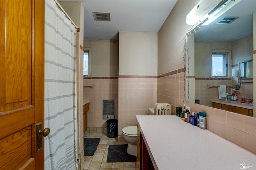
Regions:
<svg viewBox="0 0 256 170"><path fill-rule="evenodd" d="M212 55L213 54L226 54L226 76L212 76ZM231 60L232 52L231 50L210 50L210 78L230 78L231 77L231 69L232 69L232 60Z"/></svg>

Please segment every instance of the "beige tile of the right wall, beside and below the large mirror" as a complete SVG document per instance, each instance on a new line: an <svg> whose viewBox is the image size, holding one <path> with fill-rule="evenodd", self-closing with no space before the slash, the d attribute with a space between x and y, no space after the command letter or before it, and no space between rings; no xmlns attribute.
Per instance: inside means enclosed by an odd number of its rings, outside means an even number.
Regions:
<svg viewBox="0 0 256 170"><path fill-rule="evenodd" d="M172 113L175 112L176 106L183 106L182 79L183 72L158 78L157 102L170 103ZM256 119L254 117L189 102L185 102L185 105L190 107L190 111L206 113L206 129L256 154Z"/></svg>

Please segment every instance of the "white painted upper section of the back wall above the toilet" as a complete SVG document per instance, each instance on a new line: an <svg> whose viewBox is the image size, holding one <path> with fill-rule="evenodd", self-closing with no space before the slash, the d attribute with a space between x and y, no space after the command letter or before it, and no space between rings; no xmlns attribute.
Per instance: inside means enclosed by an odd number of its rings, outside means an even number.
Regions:
<svg viewBox="0 0 256 170"><path fill-rule="evenodd" d="M119 31L119 75L157 76L157 33Z"/></svg>

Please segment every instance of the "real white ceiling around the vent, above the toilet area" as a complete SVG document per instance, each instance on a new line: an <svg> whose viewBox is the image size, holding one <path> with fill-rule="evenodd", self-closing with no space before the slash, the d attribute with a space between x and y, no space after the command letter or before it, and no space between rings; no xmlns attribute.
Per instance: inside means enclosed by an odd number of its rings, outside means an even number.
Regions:
<svg viewBox="0 0 256 170"><path fill-rule="evenodd" d="M84 6L84 39L118 39L118 31L158 32L178 0L62 0ZM94 21L92 12L110 13Z"/></svg>

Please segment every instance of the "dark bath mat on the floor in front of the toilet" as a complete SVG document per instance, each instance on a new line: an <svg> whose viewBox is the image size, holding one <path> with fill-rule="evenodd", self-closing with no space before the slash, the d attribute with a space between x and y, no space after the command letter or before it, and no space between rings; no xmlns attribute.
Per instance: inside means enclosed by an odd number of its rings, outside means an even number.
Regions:
<svg viewBox="0 0 256 170"><path fill-rule="evenodd" d="M127 153L125 145L109 145L107 162L136 162L136 156Z"/></svg>

